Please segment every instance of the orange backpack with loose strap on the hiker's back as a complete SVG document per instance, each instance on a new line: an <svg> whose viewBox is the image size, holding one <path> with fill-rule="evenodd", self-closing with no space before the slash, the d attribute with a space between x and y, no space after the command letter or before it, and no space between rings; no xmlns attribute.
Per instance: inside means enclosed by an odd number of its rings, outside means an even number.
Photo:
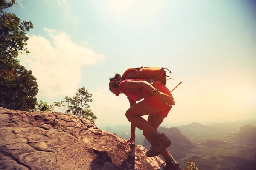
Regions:
<svg viewBox="0 0 256 170"><path fill-rule="evenodd" d="M170 77L166 75L166 69L164 67L136 67L136 68L128 68L122 75L122 80L125 79L147 79L148 82L154 86L154 88L158 88L158 86L162 83L166 85L166 77ZM169 73L172 73L169 71ZM180 85L181 82L178 84ZM177 85L177 86L178 86ZM175 88L177 88L177 86ZM174 89L175 89L174 88ZM174 90L173 89L173 90ZM173 91L172 90L172 91Z"/></svg>

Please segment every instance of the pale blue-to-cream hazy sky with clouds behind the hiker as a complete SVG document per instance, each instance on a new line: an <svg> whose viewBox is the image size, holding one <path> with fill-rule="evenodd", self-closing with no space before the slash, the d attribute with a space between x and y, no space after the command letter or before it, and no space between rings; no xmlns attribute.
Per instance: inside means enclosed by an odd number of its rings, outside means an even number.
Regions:
<svg viewBox="0 0 256 170"><path fill-rule="evenodd" d="M165 67L175 106L164 125L256 118L256 3L244 0L16 0L7 12L32 21L20 64L48 104L85 87L96 126L129 125L109 77ZM61 111L55 108L54 111ZM143 116L147 118L147 116Z"/></svg>

